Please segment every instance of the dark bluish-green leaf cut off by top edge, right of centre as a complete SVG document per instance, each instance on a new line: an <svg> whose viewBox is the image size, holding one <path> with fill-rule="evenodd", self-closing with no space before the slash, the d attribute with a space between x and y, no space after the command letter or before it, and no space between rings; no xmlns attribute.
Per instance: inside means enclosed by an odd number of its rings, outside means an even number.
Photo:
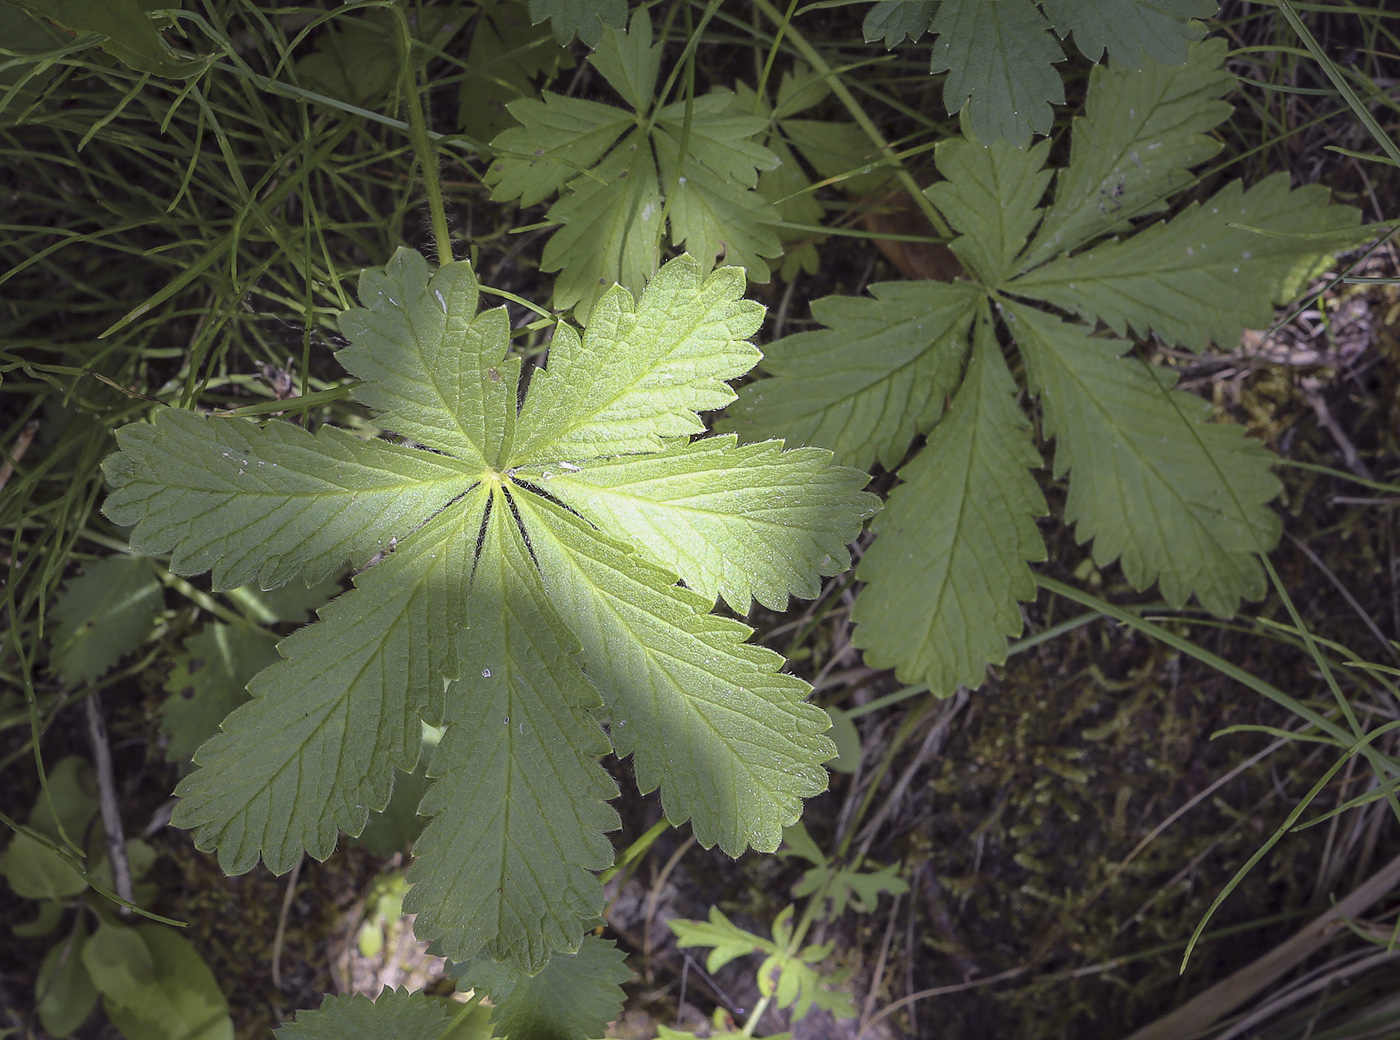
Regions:
<svg viewBox="0 0 1400 1040"><path fill-rule="evenodd" d="M895 48L934 38L928 70L948 73L944 105L966 109L977 140L1025 146L1050 133L1050 105L1064 104L1054 70L1071 32L1091 62L1116 67L1180 64L1200 39L1193 18L1215 14L1217 0L881 0L865 15L867 42Z"/></svg>

